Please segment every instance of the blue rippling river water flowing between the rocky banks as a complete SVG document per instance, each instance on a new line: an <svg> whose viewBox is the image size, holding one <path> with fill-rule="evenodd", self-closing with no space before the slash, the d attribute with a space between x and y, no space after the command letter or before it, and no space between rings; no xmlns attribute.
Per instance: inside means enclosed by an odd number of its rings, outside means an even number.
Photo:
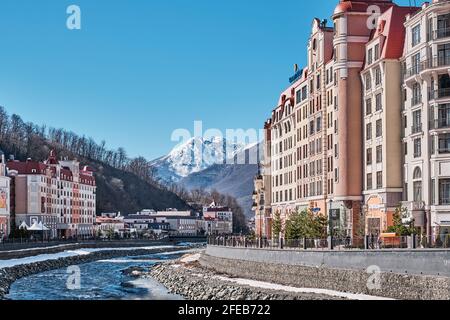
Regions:
<svg viewBox="0 0 450 320"><path fill-rule="evenodd" d="M48 271L15 282L10 300L182 300L152 279L134 278L123 271L131 267L150 267L177 259L184 252L149 254L82 264L80 286L71 288L67 268ZM73 271L72 271L73 272ZM70 283L70 282L69 282Z"/></svg>

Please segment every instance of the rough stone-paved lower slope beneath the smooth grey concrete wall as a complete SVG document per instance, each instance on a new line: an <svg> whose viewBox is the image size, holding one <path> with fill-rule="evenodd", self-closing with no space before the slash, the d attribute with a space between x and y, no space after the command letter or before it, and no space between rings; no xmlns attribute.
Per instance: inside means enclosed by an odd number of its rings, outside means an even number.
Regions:
<svg viewBox="0 0 450 320"><path fill-rule="evenodd" d="M294 254L294 253L293 253ZM240 259L226 259L203 254L200 264L230 277L268 281L297 288L317 288L386 297L399 300L450 300L450 278L378 273L377 269L352 270L324 266L302 266Z"/></svg>

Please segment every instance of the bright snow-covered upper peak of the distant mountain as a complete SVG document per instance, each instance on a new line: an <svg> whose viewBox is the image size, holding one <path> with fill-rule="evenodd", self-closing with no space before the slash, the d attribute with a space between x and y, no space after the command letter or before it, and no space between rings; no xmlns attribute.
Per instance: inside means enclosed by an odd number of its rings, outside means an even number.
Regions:
<svg viewBox="0 0 450 320"><path fill-rule="evenodd" d="M151 162L158 178L165 183L178 182L213 165L224 164L247 147L221 137L195 137L176 146L167 156Z"/></svg>

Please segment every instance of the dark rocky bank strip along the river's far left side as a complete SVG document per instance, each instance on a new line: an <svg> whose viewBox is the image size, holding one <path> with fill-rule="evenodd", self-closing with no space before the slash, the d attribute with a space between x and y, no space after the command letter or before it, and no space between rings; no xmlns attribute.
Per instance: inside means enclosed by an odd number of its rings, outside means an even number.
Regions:
<svg viewBox="0 0 450 320"><path fill-rule="evenodd" d="M154 248L145 249L130 249L130 250L104 250L83 254L73 257L64 257L54 260L46 260L35 263L17 265L0 269L0 300L5 299L8 294L10 286L17 280L38 274L46 271L57 270L69 266L90 263L104 259L114 259L125 256L141 256L148 254L157 254L162 252L173 252L179 250L189 249L187 247L168 247L168 248Z"/></svg>

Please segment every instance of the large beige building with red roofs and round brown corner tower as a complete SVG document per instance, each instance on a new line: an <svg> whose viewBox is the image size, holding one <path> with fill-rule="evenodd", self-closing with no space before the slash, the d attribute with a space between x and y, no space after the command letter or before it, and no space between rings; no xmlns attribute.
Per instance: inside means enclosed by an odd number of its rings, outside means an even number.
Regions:
<svg viewBox="0 0 450 320"><path fill-rule="evenodd" d="M402 56L408 52L403 44L410 41L408 21L418 10L390 0L340 1L333 27L313 20L307 66L296 69L266 123L271 130L266 145L271 150L272 217L279 213L285 221L304 209L327 216L332 212L336 232L353 239L392 225L402 197L412 193L405 181L414 180L402 170L403 163L408 163L405 171L411 170L402 136L406 142L413 127L403 123L412 117L402 102L408 91L407 84L402 88L402 68L410 58ZM434 82L441 95L446 87L438 83L444 82ZM434 139L435 145L443 141ZM416 222L424 227L426 218Z"/></svg>

